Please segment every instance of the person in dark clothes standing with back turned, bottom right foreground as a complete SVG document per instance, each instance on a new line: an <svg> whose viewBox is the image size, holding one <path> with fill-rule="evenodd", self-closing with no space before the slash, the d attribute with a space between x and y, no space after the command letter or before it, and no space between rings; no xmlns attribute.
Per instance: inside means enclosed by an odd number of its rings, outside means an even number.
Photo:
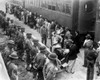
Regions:
<svg viewBox="0 0 100 80"><path fill-rule="evenodd" d="M87 60L87 80L93 80L94 78L94 64L97 58L97 52L93 49L91 45L88 49L88 54L86 56Z"/></svg>

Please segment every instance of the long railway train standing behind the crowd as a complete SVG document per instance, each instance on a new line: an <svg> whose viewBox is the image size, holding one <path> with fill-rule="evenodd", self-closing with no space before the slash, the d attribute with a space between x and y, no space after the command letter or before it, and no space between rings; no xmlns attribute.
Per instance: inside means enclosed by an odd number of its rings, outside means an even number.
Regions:
<svg viewBox="0 0 100 80"><path fill-rule="evenodd" d="M90 33L95 41L100 40L100 0L10 0L10 2L55 20L62 26Z"/></svg>

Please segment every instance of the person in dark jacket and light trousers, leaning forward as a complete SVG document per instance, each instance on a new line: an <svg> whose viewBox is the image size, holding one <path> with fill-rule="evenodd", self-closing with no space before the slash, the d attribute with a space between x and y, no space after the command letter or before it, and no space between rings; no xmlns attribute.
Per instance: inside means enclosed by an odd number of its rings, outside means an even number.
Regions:
<svg viewBox="0 0 100 80"><path fill-rule="evenodd" d="M74 73L73 67L75 65L77 54L78 54L77 46L71 40L67 41L67 43L68 43L68 46L69 46L69 48L68 48L69 53L66 56L67 60L68 60L67 72Z"/></svg>

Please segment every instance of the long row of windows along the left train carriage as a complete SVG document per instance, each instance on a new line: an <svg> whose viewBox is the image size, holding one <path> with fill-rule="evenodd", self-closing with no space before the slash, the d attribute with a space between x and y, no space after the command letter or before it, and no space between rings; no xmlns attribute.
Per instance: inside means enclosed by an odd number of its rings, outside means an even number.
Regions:
<svg viewBox="0 0 100 80"><path fill-rule="evenodd" d="M27 0L28 4L71 14L72 0Z"/></svg>

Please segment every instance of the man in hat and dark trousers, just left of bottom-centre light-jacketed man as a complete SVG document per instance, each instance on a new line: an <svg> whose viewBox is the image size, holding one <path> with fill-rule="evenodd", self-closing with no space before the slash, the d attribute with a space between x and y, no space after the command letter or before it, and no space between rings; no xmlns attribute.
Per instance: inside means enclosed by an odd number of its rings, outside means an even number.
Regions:
<svg viewBox="0 0 100 80"><path fill-rule="evenodd" d="M46 47L45 46L41 46L40 47L40 53L38 53L35 57L35 63L36 63L36 68L37 68L37 72L38 72L38 80L44 80L43 79L43 66L45 64L46 61Z"/></svg>

